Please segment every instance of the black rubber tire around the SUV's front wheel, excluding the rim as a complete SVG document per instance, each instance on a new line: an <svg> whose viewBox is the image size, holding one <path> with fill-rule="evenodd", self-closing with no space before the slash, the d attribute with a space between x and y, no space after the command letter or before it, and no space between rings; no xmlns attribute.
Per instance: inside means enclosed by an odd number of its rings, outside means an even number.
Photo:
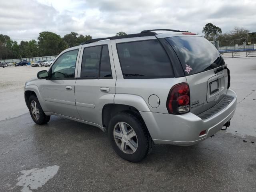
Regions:
<svg viewBox="0 0 256 192"><path fill-rule="evenodd" d="M39 111L38 119L36 119L36 117L32 114L31 103L33 101L36 102L36 108ZM44 111L42 110L42 107L41 107L41 105L38 101L38 98L35 95L31 95L30 98L28 99L28 109L29 109L29 113L30 113L31 118L33 119L33 121L36 124L42 125L42 124L46 124L50 121L51 116L48 116L44 113Z"/></svg>

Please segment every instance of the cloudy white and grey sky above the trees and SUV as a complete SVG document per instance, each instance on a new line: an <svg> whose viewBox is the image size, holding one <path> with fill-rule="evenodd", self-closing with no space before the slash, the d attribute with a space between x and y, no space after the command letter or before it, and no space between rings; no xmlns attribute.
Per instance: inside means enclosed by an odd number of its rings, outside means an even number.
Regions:
<svg viewBox="0 0 256 192"><path fill-rule="evenodd" d="M0 34L18 42L37 40L42 31L93 38L152 28L202 34L208 22L223 32L256 32L255 10L256 0L0 0Z"/></svg>

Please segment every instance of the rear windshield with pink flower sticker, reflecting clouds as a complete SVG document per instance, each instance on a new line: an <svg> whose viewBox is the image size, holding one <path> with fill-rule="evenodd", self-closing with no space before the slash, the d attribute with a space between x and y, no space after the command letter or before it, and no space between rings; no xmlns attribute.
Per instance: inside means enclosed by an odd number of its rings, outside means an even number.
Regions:
<svg viewBox="0 0 256 192"><path fill-rule="evenodd" d="M178 36L166 40L180 59L186 76L225 64L218 50L204 37Z"/></svg>

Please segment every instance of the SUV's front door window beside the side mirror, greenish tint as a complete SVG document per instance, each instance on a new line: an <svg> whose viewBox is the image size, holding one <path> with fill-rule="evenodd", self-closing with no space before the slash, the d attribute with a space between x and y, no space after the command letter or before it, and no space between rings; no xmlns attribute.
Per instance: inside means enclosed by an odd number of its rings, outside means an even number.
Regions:
<svg viewBox="0 0 256 192"><path fill-rule="evenodd" d="M74 78L78 49L62 54L52 66L51 78Z"/></svg>

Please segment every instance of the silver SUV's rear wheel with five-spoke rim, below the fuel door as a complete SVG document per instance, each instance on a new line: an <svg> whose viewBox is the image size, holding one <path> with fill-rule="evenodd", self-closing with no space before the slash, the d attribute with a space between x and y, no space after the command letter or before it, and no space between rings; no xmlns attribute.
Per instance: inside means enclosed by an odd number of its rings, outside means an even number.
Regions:
<svg viewBox="0 0 256 192"><path fill-rule="evenodd" d="M110 120L108 136L116 153L131 162L142 160L153 148L145 123L130 112L121 112Z"/></svg>

